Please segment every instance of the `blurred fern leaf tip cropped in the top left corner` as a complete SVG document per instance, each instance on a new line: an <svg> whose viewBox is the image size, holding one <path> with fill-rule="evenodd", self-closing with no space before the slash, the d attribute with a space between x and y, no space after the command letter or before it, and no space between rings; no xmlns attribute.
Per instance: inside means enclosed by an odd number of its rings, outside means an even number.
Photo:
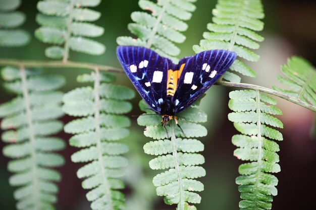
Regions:
<svg viewBox="0 0 316 210"><path fill-rule="evenodd" d="M20 47L30 41L30 35L17 29L26 20L22 12L15 11L21 0L2 0L0 2L0 47Z"/></svg>

